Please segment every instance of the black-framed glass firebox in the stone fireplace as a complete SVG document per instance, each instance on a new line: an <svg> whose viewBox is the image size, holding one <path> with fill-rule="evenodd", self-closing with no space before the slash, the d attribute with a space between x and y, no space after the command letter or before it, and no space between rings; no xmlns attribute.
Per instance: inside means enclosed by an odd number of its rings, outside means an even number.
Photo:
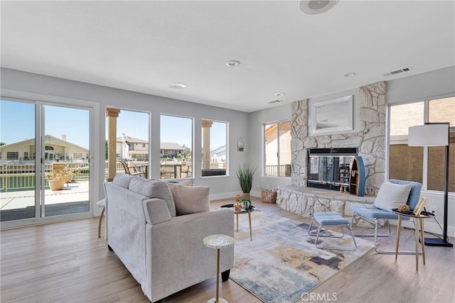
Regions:
<svg viewBox="0 0 455 303"><path fill-rule="evenodd" d="M340 190L349 186L350 167L357 148L310 148L307 187Z"/></svg>

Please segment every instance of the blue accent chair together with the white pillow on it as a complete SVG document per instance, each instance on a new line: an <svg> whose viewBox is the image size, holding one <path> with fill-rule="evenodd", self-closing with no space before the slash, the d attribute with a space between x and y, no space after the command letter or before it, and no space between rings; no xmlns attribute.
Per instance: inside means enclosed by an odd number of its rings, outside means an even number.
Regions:
<svg viewBox="0 0 455 303"><path fill-rule="evenodd" d="M400 185L402 186L400 187ZM355 236L374 236L374 248L376 253L395 254L395 250L378 250L378 237L391 236L392 233L390 231L389 220L398 219L398 215L394 214L391 209L397 208L399 204L407 204L410 206L411 211L414 210L415 206L417 206L419 203L421 189L422 184L419 182L391 179L381 185L378 192L378 197L376 197L375 203L373 205L351 204L350 208L353 210L353 219L351 226L353 226L354 220L356 218L361 218L369 224L372 224L375 228L375 233L373 234L359 234ZM402 219L412 221L415 228L415 221L412 218L403 216ZM378 233L378 225L380 224L380 220L384 220L385 224L387 224L388 233ZM400 251L399 253L415 254L415 251Z"/></svg>

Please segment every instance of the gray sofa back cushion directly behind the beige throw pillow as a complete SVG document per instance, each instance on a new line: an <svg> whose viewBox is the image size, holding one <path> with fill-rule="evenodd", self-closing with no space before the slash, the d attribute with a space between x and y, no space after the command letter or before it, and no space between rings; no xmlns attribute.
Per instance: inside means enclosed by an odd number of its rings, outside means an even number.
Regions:
<svg viewBox="0 0 455 303"><path fill-rule="evenodd" d="M176 216L176 204L174 204L171 189L165 181L148 180L143 177L132 177L129 182L129 190L143 194L150 198L159 198L168 205L171 216Z"/></svg>

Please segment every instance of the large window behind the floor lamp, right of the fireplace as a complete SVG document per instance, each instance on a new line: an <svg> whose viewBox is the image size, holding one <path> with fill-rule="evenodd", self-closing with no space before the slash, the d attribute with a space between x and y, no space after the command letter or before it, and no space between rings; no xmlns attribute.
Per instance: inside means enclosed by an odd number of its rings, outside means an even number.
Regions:
<svg viewBox="0 0 455 303"><path fill-rule="evenodd" d="M427 113L427 114L426 114ZM444 190L444 146L407 146L410 126L428 122L450 123L449 167L455 167L455 97L429 99L390 106L389 178L426 184L425 189ZM425 151L427 150L427 151ZM455 192L455 175L449 173L449 191Z"/></svg>

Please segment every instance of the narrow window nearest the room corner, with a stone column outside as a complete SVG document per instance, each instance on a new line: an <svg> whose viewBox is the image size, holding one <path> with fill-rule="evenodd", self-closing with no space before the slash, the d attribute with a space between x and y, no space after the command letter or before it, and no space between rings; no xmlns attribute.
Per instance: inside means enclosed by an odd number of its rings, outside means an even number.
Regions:
<svg viewBox="0 0 455 303"><path fill-rule="evenodd" d="M202 176L224 176L227 167L228 123L202 120Z"/></svg>

